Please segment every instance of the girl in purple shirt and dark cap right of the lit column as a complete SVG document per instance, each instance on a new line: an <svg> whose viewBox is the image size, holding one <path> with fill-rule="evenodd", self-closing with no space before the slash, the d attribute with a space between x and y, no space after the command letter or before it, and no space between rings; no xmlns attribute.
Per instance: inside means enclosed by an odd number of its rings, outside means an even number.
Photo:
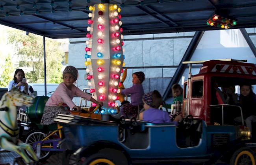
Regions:
<svg viewBox="0 0 256 165"><path fill-rule="evenodd" d="M131 103L124 104L121 108L121 115L126 118L137 117L138 107L142 108L142 97L144 95L144 89L142 82L145 80L145 74L143 72L135 72L132 74L132 87L122 89L122 95L131 95Z"/></svg>

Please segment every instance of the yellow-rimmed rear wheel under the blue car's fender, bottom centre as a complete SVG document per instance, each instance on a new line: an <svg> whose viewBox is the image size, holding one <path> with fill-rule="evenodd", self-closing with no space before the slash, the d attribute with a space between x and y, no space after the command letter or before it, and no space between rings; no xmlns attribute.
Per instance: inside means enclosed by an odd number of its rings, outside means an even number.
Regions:
<svg viewBox="0 0 256 165"><path fill-rule="evenodd" d="M121 151L105 148L85 158L83 165L128 165L128 161Z"/></svg>

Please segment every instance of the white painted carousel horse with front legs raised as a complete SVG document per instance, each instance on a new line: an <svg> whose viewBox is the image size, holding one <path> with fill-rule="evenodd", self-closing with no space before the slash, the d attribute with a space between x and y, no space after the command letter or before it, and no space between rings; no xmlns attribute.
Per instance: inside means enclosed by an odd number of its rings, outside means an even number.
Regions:
<svg viewBox="0 0 256 165"><path fill-rule="evenodd" d="M5 93L0 101L0 148L17 152L27 164L32 164L33 161L27 156L25 150L30 152L35 161L38 161L38 158L30 145L18 139L17 106L32 104L33 97L22 93L18 88Z"/></svg>

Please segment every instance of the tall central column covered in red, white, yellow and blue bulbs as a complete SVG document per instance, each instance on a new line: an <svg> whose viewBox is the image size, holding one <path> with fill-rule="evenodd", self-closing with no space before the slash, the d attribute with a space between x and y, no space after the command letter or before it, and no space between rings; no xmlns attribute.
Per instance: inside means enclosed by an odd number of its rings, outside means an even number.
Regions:
<svg viewBox="0 0 256 165"><path fill-rule="evenodd" d="M119 99L117 91L124 60L120 8L114 4L95 4L90 10L93 13L88 21L91 27L87 37L90 38L91 48L88 46L86 51L91 53L87 68L92 70L89 70L87 80L89 78L92 82L91 93L96 100L104 103L104 110L100 113L116 113L118 105L115 101Z"/></svg>

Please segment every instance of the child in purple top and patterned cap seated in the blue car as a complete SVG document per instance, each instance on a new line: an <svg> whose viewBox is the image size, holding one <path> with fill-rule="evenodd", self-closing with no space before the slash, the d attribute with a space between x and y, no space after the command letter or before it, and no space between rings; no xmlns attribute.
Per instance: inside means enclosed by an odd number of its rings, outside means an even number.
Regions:
<svg viewBox="0 0 256 165"><path fill-rule="evenodd" d="M145 111L139 114L139 119L152 123L166 123L171 122L167 111L158 109L162 104L162 96L158 91L147 93L143 96L143 107ZM174 124L182 119L181 115L178 115L174 119Z"/></svg>

